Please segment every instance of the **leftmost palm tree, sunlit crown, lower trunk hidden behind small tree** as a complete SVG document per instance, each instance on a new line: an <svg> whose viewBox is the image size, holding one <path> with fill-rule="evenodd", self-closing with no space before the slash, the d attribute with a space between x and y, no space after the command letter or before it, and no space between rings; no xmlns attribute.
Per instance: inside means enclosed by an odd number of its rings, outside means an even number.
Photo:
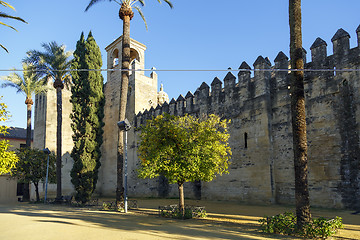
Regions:
<svg viewBox="0 0 360 240"><path fill-rule="evenodd" d="M5 83L1 84L1 87L13 87L17 90L18 93L23 93L26 96L25 104L27 106L27 116L26 116L26 147L31 147L31 108L33 105L32 96L34 94L39 94L47 91L46 82L40 80L39 74L32 71L33 66L23 63L23 77L18 73L11 73L9 76L6 76L4 80ZM29 192L29 183L24 185L24 196L23 200L30 200Z"/></svg>

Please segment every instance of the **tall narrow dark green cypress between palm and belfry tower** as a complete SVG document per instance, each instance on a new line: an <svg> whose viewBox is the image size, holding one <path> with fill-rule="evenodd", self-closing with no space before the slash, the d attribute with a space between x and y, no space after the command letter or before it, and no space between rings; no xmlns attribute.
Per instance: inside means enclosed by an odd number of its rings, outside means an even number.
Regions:
<svg viewBox="0 0 360 240"><path fill-rule="evenodd" d="M101 69L99 46L90 32L86 41L81 33L76 44L72 69ZM105 98L103 76L100 71L72 72L72 124L74 147L71 157L74 165L71 182L75 187L75 200L83 204L90 200L96 188L100 167L100 146L103 142Z"/></svg>

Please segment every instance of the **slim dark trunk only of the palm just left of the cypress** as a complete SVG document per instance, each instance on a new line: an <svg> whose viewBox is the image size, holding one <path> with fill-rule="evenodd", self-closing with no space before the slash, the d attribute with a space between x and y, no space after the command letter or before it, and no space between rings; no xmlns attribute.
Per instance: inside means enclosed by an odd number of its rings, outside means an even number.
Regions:
<svg viewBox="0 0 360 240"><path fill-rule="evenodd" d="M62 155L62 89L64 84L61 80L55 79L54 87L56 89L56 112L57 112L57 126L56 126L56 200L61 199L61 155Z"/></svg>

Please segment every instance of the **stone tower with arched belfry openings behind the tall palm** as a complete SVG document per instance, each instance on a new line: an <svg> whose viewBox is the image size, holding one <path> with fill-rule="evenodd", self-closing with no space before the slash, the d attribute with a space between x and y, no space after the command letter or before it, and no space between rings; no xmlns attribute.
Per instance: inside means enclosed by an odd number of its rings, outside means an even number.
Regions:
<svg viewBox="0 0 360 240"><path fill-rule="evenodd" d="M119 121L119 102L121 86L121 44L119 37L105 48L107 52L107 83L105 92L105 117L104 117L104 142L102 145L102 159L97 191L104 196L115 194L116 189L116 147L117 147L117 122ZM131 39L130 42L131 69L145 68L146 46ZM152 72L150 77L144 71L130 72L129 91L126 117L134 126L133 119L136 114L157 105L157 74ZM135 144L133 131L128 133L128 139ZM129 163L132 156L128 153ZM131 169L131 166L129 166Z"/></svg>

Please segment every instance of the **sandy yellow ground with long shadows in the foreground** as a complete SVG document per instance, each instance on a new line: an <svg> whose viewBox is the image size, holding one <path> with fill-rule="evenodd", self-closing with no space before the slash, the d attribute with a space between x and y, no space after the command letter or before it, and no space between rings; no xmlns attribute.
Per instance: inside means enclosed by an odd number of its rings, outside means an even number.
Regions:
<svg viewBox="0 0 360 240"><path fill-rule="evenodd" d="M176 199L138 199L139 209L126 214L59 205L0 205L0 239L297 239L263 234L257 222L265 215L292 211L292 207L187 200L186 204L205 206L208 217L158 217L158 206L176 203ZM326 209L312 209L312 214L343 218L345 228L333 239L360 239L359 214Z"/></svg>

